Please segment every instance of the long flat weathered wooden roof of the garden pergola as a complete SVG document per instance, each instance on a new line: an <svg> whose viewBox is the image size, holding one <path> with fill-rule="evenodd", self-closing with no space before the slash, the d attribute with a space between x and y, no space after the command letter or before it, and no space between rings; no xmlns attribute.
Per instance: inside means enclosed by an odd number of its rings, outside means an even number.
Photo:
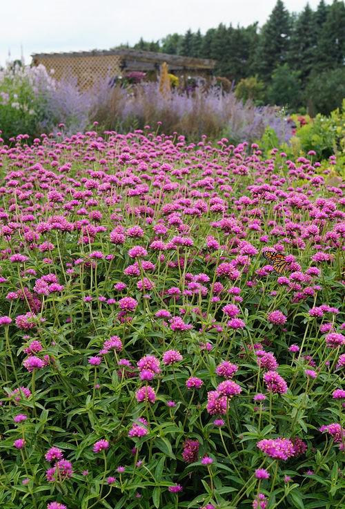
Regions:
<svg viewBox="0 0 345 509"><path fill-rule="evenodd" d="M61 57L97 57L97 56L117 55L128 61L140 61L152 64L163 64L166 62L168 66L174 68L186 69L209 69L215 67L216 61L211 59L201 59L192 57L181 57L181 55L168 55L168 53L159 53L153 51L132 50L129 48L120 48L115 50L92 50L92 51L71 51L71 52L58 52L58 53L33 53L32 59L39 60L40 58L61 58Z"/></svg>

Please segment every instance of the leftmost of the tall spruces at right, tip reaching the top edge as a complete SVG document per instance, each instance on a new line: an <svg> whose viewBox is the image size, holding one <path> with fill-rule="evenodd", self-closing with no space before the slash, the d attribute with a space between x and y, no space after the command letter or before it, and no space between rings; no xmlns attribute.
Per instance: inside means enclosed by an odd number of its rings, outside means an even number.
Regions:
<svg viewBox="0 0 345 509"><path fill-rule="evenodd" d="M266 81L273 70L286 62L290 38L290 15L282 0L277 0L268 21L262 27L257 48L257 72Z"/></svg>

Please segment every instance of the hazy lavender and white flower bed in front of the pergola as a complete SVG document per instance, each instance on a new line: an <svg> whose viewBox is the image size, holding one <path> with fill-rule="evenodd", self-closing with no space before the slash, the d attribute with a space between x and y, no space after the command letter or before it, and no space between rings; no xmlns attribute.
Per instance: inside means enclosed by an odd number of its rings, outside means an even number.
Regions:
<svg viewBox="0 0 345 509"><path fill-rule="evenodd" d="M231 142L253 142L273 128L280 143L292 135L284 114L272 106L243 104L232 92L216 86L180 90L177 77L168 75L172 88L161 93L157 83L140 83L145 73L133 71L124 79L101 79L80 91L75 79L56 81L43 66L8 66L0 71L0 129L6 140L19 133L30 139L42 132L56 133L63 123L69 134L90 128L127 133L146 125L167 134L178 132L189 141L201 135ZM128 88L121 84L128 84Z"/></svg>

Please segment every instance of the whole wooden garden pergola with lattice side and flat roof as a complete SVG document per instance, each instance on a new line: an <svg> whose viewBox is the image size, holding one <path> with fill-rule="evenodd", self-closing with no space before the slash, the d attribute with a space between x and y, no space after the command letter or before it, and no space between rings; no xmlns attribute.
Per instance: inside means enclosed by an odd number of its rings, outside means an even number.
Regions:
<svg viewBox="0 0 345 509"><path fill-rule="evenodd" d="M76 77L79 88L90 88L99 78L126 75L141 71L148 79L156 79L161 64L166 62L170 73L184 79L204 77L210 79L215 68L215 60L181 57L165 53L130 49L92 50L80 52L35 53L32 55L35 66L43 64L54 70L56 79Z"/></svg>

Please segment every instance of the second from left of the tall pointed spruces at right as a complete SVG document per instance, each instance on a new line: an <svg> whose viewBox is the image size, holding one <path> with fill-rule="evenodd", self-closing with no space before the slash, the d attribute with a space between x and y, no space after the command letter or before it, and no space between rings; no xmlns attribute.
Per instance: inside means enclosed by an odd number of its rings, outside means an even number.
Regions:
<svg viewBox="0 0 345 509"><path fill-rule="evenodd" d="M310 75L315 64L317 54L317 27L313 10L309 4L295 19L290 37L288 63L294 70L299 71L302 81Z"/></svg>

